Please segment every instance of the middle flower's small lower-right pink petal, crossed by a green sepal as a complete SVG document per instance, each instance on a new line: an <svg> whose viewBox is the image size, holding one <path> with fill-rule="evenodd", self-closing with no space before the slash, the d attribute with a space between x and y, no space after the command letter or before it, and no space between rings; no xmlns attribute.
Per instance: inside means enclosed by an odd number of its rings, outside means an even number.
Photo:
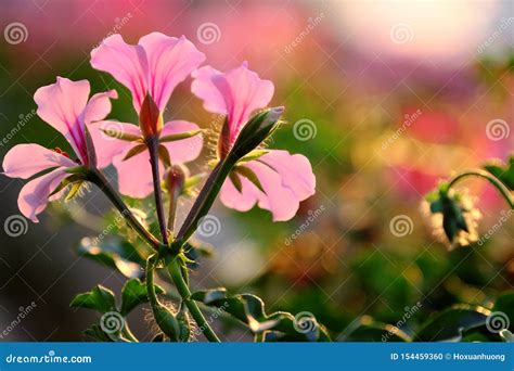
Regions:
<svg viewBox="0 0 514 371"><path fill-rule="evenodd" d="M198 126L193 123L183 120L169 121L164 125L163 130L160 131L160 138L197 129ZM164 142L163 144L168 149L171 163L183 164L195 159L200 155L203 146L203 138L202 135L198 133L188 139L175 142Z"/></svg>

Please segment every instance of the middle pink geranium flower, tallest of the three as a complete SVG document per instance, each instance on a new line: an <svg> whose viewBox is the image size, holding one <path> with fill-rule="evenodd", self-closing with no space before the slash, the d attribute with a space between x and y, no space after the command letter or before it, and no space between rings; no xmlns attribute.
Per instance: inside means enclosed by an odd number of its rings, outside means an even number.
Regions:
<svg viewBox="0 0 514 371"><path fill-rule="evenodd" d="M126 43L119 35L113 35L91 52L91 65L110 73L130 90L133 106L140 115L140 127L103 121L92 130L93 137L107 132L121 139L111 142L108 155L114 156L113 164L118 170L118 187L123 194L144 197L152 193L150 154L141 146L151 137L156 137L162 143L162 162L166 163L169 157L171 163L184 163L198 156L203 145L202 138L194 136L198 132L198 126L184 120L163 125L162 113L177 85L204 60L205 55L184 37L168 37L159 33L142 37L136 46ZM141 119L150 105L156 107L158 119ZM163 175L163 164L159 163L159 174Z"/></svg>

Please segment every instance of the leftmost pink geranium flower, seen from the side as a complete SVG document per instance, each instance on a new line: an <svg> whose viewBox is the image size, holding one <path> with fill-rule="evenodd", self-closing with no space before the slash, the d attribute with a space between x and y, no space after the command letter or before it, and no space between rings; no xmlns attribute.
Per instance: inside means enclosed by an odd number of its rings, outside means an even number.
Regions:
<svg viewBox="0 0 514 371"><path fill-rule="evenodd" d="M87 166L99 168L108 165L108 157L102 153L102 143L93 140L95 151L88 145L86 126L104 119L111 112L110 99L116 99L114 90L98 93L88 101L89 81L72 81L57 77L55 84L39 88L34 94L38 115L60 131L72 145L76 158L60 149L49 150L39 144L18 144L8 152L3 159L3 174L11 178L28 179L41 171L50 170L26 183L17 200L20 212L34 222L37 215L47 207L49 201L59 199L61 192L53 193L61 183L73 176L70 168ZM97 138L102 141L102 138ZM91 153L94 151L97 153ZM93 164L94 159L97 164Z"/></svg>

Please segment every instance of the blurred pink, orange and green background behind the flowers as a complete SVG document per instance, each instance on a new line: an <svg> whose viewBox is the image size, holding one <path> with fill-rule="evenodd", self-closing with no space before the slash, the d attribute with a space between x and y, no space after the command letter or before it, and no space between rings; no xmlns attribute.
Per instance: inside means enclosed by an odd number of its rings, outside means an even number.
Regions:
<svg viewBox="0 0 514 371"><path fill-rule="evenodd" d="M274 82L272 105L286 107L288 124L269 145L309 157L317 194L281 223L260 209L237 214L217 204L220 229L203 239L215 255L201 259L193 286L223 285L259 295L270 310L312 312L340 338L362 316L396 323L420 303L409 332L452 304L490 308L513 289L513 220L481 246L448 252L420 208L439 179L505 159L514 148L513 15L512 2L486 0L2 1L0 157L23 142L67 149L34 115L35 90L56 76L89 79L94 92L117 89L110 117L136 121L128 91L89 65L90 51L112 33L132 43L154 30L185 35L218 69L248 61ZM165 118L211 127L217 118L190 84L175 91ZM491 121L500 137L487 129ZM205 170L213 154L207 145L192 169ZM2 223L20 214L22 184L0 177ZM506 206L484 182L466 186L479 199L486 233ZM182 202L179 218L190 204ZM151 200L138 206L147 210ZM119 290L125 280L74 248L102 231L107 210L90 189L49 207L26 233L2 233L0 330L37 307L0 341L85 338L80 331L97 316L70 309L74 294L98 283ZM395 232L399 216L407 232ZM139 323L134 332L150 340ZM234 330L226 338L249 337Z"/></svg>

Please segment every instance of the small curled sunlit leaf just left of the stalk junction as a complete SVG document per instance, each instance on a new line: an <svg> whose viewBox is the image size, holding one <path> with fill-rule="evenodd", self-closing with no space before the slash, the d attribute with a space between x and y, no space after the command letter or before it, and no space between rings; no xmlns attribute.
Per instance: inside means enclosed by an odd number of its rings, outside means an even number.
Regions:
<svg viewBox="0 0 514 371"><path fill-rule="evenodd" d="M150 255L144 247L137 247L121 239L103 234L81 239L77 252L80 256L119 270L128 278L143 276L141 267Z"/></svg>

